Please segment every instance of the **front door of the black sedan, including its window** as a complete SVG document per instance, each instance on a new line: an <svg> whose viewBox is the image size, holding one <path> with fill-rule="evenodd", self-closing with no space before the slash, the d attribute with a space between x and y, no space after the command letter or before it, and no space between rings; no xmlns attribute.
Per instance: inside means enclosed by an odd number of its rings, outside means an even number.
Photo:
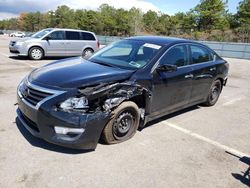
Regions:
<svg viewBox="0 0 250 188"><path fill-rule="evenodd" d="M178 110L189 103L192 91L192 69L188 65L186 45L169 49L160 59L159 66L176 65L176 71L153 72L153 98L151 114L159 115Z"/></svg>

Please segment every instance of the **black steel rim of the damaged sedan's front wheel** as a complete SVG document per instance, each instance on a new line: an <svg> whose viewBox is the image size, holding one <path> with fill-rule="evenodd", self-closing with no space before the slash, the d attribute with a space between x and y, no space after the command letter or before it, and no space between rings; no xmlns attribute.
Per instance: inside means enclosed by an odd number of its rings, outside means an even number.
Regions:
<svg viewBox="0 0 250 188"><path fill-rule="evenodd" d="M121 113L113 125L113 134L120 139L128 134L135 122L134 116L130 112Z"/></svg>

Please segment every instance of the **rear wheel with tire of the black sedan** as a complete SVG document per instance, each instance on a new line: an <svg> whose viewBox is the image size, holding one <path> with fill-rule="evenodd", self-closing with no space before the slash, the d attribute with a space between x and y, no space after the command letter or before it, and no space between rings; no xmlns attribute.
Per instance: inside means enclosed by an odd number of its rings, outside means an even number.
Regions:
<svg viewBox="0 0 250 188"><path fill-rule="evenodd" d="M206 102L204 103L205 106L213 106L219 99L220 93L222 90L222 84L220 80L215 80L209 90L209 94L207 97Z"/></svg>

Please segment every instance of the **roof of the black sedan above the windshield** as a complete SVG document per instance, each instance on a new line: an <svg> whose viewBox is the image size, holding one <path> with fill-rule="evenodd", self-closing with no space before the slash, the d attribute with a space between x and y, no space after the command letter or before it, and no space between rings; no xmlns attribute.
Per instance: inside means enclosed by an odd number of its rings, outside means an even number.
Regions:
<svg viewBox="0 0 250 188"><path fill-rule="evenodd" d="M135 36L126 38L127 40L139 40L147 43L153 43L158 45L168 45L174 43L196 43L192 40L181 39L181 38L174 38L174 37L163 37L163 36Z"/></svg>

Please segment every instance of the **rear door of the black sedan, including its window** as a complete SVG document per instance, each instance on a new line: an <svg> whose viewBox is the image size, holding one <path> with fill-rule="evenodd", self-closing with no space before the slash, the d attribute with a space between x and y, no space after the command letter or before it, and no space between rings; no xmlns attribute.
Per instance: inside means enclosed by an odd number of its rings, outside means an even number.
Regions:
<svg viewBox="0 0 250 188"><path fill-rule="evenodd" d="M209 49L201 45L189 45L193 87L190 103L203 102L216 75L216 66Z"/></svg>

